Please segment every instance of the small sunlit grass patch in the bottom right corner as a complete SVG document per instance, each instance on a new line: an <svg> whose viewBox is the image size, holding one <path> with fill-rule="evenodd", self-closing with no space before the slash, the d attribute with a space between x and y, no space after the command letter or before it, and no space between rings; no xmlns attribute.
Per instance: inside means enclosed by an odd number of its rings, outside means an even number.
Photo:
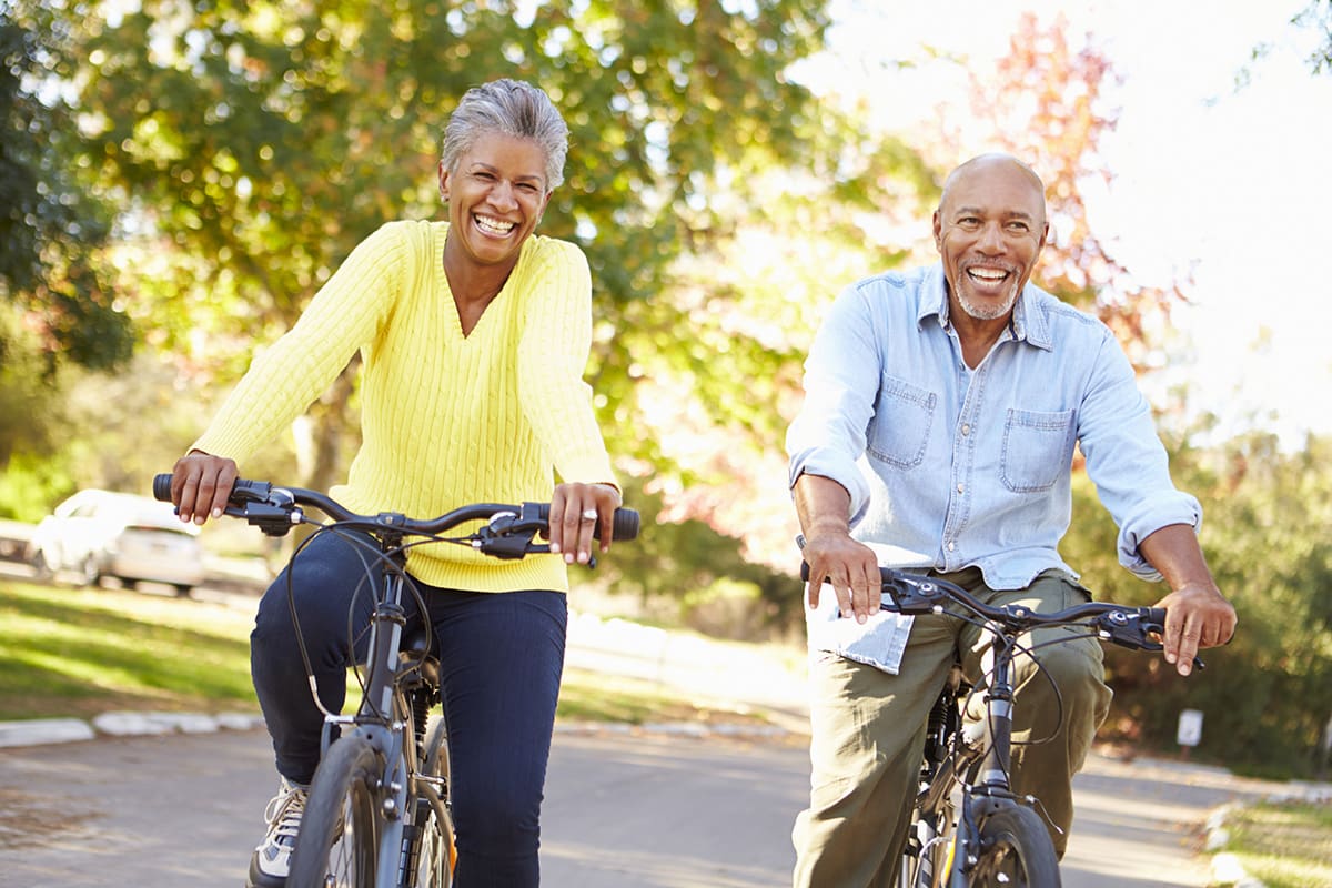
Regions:
<svg viewBox="0 0 1332 888"><path fill-rule="evenodd" d="M1332 885L1332 803L1260 803L1231 813L1225 828L1221 851L1267 888Z"/></svg>

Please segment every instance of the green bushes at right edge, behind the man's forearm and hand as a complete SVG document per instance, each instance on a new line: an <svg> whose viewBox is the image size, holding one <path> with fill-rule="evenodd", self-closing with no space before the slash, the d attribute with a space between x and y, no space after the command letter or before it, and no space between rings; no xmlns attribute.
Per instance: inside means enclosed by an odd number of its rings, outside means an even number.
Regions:
<svg viewBox="0 0 1332 888"><path fill-rule="evenodd" d="M1252 433L1223 446L1176 445L1176 482L1204 505L1208 563L1235 603L1231 644L1203 651L1207 668L1181 679L1159 656L1108 652L1115 687L1111 736L1173 747L1179 712L1201 710L1200 756L1229 766L1307 774L1332 716L1332 441L1309 438L1283 453ZM1083 485L1079 531L1066 559L1099 598L1154 604L1162 584L1142 583L1115 563L1115 527Z"/></svg>

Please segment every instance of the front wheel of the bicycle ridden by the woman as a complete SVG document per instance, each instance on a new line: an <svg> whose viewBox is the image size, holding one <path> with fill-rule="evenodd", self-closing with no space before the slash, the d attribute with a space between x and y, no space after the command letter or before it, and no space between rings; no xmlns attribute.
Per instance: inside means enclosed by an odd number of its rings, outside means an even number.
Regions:
<svg viewBox="0 0 1332 888"><path fill-rule="evenodd" d="M380 851L380 754L361 738L329 747L314 772L288 888L374 888Z"/></svg>

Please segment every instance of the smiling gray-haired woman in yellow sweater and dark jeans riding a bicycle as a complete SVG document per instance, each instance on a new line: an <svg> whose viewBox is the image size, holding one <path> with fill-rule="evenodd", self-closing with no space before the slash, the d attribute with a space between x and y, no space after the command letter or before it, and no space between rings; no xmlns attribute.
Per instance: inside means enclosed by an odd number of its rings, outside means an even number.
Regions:
<svg viewBox="0 0 1332 888"><path fill-rule="evenodd" d="M587 563L621 505L590 390L591 284L573 244L533 230L563 180L569 129L538 88L498 80L452 114L438 165L449 221L396 221L362 241L300 321L257 357L174 467L182 521L221 514L237 462L276 435L360 350L362 445L332 493L360 513L437 515L464 503L550 501L551 555L494 560L412 549L441 659L457 820L456 877L537 885L539 809L567 622L566 566ZM554 483L558 473L562 483ZM610 535L601 543L606 550ZM373 574L374 571L369 571ZM285 884L324 716L310 699L288 587L324 707L337 712L348 612L372 598L357 549L314 539L269 587L250 668L280 775L250 884ZM290 582L289 582L290 580Z"/></svg>

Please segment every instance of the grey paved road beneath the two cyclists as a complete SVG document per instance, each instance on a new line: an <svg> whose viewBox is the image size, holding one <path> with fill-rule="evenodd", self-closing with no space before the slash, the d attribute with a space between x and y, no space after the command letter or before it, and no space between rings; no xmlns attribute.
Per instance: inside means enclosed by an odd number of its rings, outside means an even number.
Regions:
<svg viewBox="0 0 1332 888"><path fill-rule="evenodd" d="M557 735L545 884L786 884L806 795L798 744ZM1209 809L1269 787L1205 770L1095 759L1064 864L1070 888L1200 887L1192 836ZM0 750L0 885L241 884L273 789L262 731Z"/></svg>

